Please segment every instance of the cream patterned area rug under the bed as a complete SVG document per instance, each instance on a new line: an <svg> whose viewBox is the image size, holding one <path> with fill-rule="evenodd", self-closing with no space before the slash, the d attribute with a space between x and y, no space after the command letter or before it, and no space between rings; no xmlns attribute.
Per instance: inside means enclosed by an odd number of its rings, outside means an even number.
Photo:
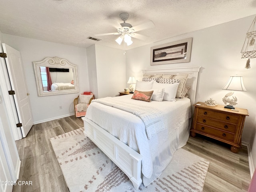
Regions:
<svg viewBox="0 0 256 192"><path fill-rule="evenodd" d="M89 139L83 128L50 138L70 192L135 192L129 178ZM142 192L202 192L209 162L186 150Z"/></svg>

